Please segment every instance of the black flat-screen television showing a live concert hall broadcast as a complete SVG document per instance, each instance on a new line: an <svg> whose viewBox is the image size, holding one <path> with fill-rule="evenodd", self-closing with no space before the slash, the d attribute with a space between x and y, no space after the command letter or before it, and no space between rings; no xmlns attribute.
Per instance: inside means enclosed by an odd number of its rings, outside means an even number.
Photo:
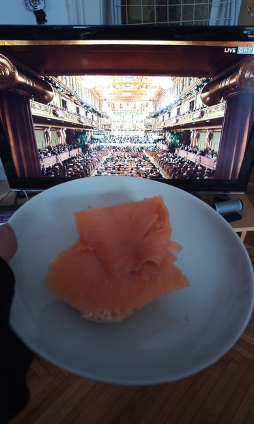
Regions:
<svg viewBox="0 0 254 424"><path fill-rule="evenodd" d="M119 174L244 192L253 75L254 27L1 25L10 188Z"/></svg>

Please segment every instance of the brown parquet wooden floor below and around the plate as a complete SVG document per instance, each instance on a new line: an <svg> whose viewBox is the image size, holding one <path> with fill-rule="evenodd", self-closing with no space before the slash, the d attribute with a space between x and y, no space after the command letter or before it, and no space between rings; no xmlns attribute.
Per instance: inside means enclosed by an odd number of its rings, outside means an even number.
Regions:
<svg viewBox="0 0 254 424"><path fill-rule="evenodd" d="M254 171L246 193L254 205ZM254 232L246 235L246 248L254 264ZM29 404L11 424L253 424L254 315L221 360L179 382L100 384L63 372L38 356L27 380Z"/></svg>

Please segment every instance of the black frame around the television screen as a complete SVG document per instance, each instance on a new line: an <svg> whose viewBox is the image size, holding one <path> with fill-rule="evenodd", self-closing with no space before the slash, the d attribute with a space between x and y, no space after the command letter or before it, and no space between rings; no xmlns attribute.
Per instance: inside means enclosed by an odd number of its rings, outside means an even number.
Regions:
<svg viewBox="0 0 254 424"><path fill-rule="evenodd" d="M0 40L196 40L254 41L254 27L187 27L155 25L72 26L72 25L0 25ZM119 72L118 72L119 74ZM70 178L24 178L17 176L0 119L0 157L12 190L43 191ZM159 181L193 193L244 192L254 157L254 124L237 180L165 179ZM109 181L110 183L110 181Z"/></svg>

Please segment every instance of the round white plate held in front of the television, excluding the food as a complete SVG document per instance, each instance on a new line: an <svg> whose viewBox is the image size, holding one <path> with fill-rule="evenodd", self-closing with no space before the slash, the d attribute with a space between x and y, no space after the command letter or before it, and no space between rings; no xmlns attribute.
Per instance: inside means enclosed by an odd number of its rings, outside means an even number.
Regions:
<svg viewBox="0 0 254 424"><path fill-rule="evenodd" d="M76 239L73 213L162 194L183 246L190 287L122 323L85 321L45 288L52 258ZM125 176L70 181L38 194L10 219L16 294L11 325L37 354L67 371L115 384L157 384L201 371L236 343L253 309L253 269L238 235L207 204L164 183Z"/></svg>

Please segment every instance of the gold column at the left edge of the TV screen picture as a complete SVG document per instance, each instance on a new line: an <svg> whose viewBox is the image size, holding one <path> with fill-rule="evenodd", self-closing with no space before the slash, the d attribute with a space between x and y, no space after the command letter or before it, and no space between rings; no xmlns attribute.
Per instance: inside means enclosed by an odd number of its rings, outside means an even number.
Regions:
<svg viewBox="0 0 254 424"><path fill-rule="evenodd" d="M0 118L18 176L41 175L30 99L49 103L53 96L50 84L23 74L0 54Z"/></svg>

